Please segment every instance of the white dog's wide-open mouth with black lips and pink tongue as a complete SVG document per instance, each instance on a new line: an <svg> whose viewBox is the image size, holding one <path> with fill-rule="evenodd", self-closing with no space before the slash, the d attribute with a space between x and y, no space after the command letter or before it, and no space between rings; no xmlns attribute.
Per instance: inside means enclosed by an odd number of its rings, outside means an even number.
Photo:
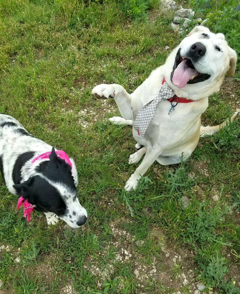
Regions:
<svg viewBox="0 0 240 294"><path fill-rule="evenodd" d="M182 57L180 51L181 48L178 49L171 73L171 81L175 86L183 88L186 84L195 84L210 78L210 74L198 72L192 63L192 60L190 58Z"/></svg>

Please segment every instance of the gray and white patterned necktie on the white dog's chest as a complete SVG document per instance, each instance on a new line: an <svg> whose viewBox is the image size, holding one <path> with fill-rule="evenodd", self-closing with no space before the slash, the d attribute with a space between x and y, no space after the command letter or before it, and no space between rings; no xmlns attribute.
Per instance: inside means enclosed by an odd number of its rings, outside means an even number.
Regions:
<svg viewBox="0 0 240 294"><path fill-rule="evenodd" d="M133 128L138 132L139 138L144 137L145 132L150 124L150 121L152 121L152 118L155 112L157 111L158 104L162 100L169 99L172 96L174 96L174 92L165 82L162 85L158 95L138 111Z"/></svg>

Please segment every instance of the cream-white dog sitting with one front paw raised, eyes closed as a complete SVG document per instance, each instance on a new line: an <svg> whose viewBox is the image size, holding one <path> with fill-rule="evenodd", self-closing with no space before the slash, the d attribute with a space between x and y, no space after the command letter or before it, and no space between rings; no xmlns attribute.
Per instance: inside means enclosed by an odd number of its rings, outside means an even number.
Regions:
<svg viewBox="0 0 240 294"><path fill-rule="evenodd" d="M199 134L212 134L224 126L223 123L201 127L201 114L208 107L208 96L218 91L225 74L234 74L236 61L236 52L228 46L223 34L213 34L208 28L196 26L172 51L166 63L152 71L132 94L118 84L100 84L93 88L95 97L115 99L123 118L110 118L114 124L134 125L140 109L155 99L164 81L176 95L175 101L179 97L171 113L172 103L168 100L158 104L144 137L139 137L133 127L133 137L138 142L136 148L141 149L130 155L128 163L138 162L144 154L145 157L126 182L127 191L136 188L140 177L155 160L162 165L177 164L182 152L185 159L192 154Z"/></svg>

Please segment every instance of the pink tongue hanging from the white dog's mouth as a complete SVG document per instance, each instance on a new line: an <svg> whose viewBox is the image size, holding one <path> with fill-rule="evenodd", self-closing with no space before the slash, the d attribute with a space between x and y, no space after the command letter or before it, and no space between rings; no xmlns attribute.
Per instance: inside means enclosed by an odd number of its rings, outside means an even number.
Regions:
<svg viewBox="0 0 240 294"><path fill-rule="evenodd" d="M178 67L175 69L172 77L172 82L178 88L183 88L186 86L187 82L193 75L197 75L198 72L195 69L190 68L186 61L182 61L178 64Z"/></svg>

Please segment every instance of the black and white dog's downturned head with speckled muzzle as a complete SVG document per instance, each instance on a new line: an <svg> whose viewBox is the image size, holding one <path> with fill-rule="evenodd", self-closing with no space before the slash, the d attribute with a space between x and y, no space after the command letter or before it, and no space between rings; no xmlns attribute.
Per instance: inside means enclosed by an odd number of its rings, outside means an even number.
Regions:
<svg viewBox="0 0 240 294"><path fill-rule="evenodd" d="M36 210L55 213L72 228L82 226L87 220L87 212L77 197L72 169L57 157L54 148L49 160L37 164L28 180L13 187Z"/></svg>

